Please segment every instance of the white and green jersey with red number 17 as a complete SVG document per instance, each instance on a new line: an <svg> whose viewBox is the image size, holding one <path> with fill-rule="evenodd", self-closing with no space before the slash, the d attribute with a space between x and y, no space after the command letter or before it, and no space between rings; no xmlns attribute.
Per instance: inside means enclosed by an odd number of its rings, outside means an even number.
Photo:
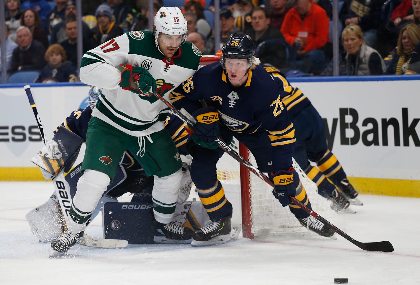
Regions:
<svg viewBox="0 0 420 285"><path fill-rule="evenodd" d="M141 66L156 80L157 93L169 100L169 91L198 69L202 53L185 42L172 58L157 50L152 32L133 31L105 42L84 54L80 79L102 87L92 116L132 136L163 129L169 108L156 96L138 95L119 87L121 64Z"/></svg>

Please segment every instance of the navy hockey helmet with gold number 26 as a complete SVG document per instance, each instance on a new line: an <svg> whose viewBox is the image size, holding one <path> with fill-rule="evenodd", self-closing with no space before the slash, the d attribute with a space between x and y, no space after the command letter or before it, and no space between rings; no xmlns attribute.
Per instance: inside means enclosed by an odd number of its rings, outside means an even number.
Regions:
<svg viewBox="0 0 420 285"><path fill-rule="evenodd" d="M220 63L222 64L222 67L226 69L226 58L246 59L249 68L252 66L255 49L255 43L252 41L249 34L234 33L223 44Z"/></svg>

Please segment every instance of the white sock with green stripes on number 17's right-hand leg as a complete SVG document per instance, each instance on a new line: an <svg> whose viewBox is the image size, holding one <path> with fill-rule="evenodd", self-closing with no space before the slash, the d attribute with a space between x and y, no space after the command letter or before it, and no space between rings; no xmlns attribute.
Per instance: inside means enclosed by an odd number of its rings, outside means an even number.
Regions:
<svg viewBox="0 0 420 285"><path fill-rule="evenodd" d="M155 176L152 190L153 213L157 222L168 224L172 221L178 201L179 186L181 185L182 171L165 176Z"/></svg>

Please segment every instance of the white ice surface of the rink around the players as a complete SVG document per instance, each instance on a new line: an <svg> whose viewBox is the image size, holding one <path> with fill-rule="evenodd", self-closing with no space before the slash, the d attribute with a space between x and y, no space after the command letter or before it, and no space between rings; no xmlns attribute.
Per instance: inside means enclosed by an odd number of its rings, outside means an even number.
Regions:
<svg viewBox="0 0 420 285"><path fill-rule="evenodd" d="M129 245L123 249L72 247L49 259L25 214L51 193L51 182L0 182L0 284L420 284L419 198L360 195L364 206L336 224L361 242L389 240L394 252L367 252L343 237L241 238L223 245ZM88 227L101 235L100 221Z"/></svg>

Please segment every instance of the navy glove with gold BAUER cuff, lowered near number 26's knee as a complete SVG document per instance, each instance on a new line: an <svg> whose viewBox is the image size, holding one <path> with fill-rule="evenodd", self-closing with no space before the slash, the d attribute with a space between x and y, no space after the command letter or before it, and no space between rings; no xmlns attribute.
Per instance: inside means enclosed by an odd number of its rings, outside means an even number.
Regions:
<svg viewBox="0 0 420 285"><path fill-rule="evenodd" d="M273 195L280 201L281 206L289 205L289 196L296 195L296 188L293 183L294 168L290 167L287 171L280 170L276 173L271 173L274 182Z"/></svg>

